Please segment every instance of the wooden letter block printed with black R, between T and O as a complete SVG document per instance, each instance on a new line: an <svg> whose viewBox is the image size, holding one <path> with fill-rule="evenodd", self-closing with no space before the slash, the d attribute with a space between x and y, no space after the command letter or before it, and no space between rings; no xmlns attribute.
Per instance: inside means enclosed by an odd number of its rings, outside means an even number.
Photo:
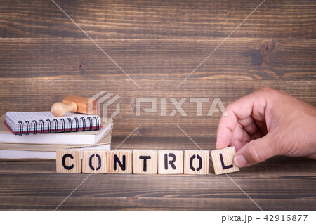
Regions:
<svg viewBox="0 0 316 224"><path fill-rule="evenodd" d="M180 174L183 173L183 151L159 150L158 173Z"/></svg>

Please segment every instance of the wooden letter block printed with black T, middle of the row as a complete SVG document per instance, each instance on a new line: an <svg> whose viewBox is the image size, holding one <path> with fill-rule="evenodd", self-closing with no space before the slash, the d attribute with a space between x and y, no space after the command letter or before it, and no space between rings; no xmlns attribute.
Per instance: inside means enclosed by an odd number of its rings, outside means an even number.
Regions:
<svg viewBox="0 0 316 224"><path fill-rule="evenodd" d="M158 172L157 150L134 150L133 173L157 174Z"/></svg>

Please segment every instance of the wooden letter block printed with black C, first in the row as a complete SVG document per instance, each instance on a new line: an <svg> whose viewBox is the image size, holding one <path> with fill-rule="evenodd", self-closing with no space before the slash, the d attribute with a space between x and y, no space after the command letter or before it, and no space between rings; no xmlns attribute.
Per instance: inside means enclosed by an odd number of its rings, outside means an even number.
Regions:
<svg viewBox="0 0 316 224"><path fill-rule="evenodd" d="M56 151L57 173L81 173L81 150Z"/></svg>

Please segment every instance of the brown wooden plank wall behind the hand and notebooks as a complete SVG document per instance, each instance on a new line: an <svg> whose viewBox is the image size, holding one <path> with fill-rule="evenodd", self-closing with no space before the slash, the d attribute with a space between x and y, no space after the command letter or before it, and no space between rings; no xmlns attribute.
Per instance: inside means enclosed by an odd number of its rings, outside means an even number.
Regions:
<svg viewBox="0 0 316 224"><path fill-rule="evenodd" d="M220 116L206 116L213 98L228 105L270 86L316 105L316 2L60 1L67 13L117 62L133 83L53 1L1 1L0 112L49 110L66 95L119 95L113 136L215 137ZM157 113L136 116L137 97L157 98ZM169 98L187 98L177 112ZM197 116L191 97L209 98ZM166 98L166 116L160 116ZM114 112L115 105L110 106ZM149 103L144 106L149 107Z"/></svg>

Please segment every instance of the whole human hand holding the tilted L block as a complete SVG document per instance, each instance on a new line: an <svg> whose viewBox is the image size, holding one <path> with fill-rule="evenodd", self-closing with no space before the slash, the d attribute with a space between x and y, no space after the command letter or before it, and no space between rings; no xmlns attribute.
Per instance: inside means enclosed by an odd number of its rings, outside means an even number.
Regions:
<svg viewBox="0 0 316 224"><path fill-rule="evenodd" d="M316 107L282 91L264 87L226 107L216 148L236 147L239 167L275 155L316 159Z"/></svg>

